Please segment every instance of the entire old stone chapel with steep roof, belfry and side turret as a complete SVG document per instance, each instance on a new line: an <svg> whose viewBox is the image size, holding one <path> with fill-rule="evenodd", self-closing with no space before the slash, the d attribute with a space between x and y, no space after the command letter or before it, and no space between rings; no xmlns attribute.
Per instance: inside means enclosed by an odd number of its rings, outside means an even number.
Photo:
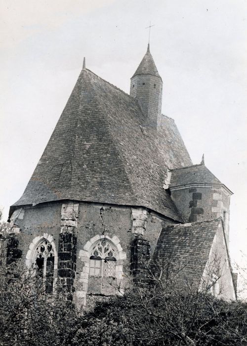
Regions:
<svg viewBox="0 0 247 346"><path fill-rule="evenodd" d="M21 198L10 207L7 260L19 256L66 285L77 306L124 292L139 258L186 263L179 282L235 300L229 258L232 192L193 165L148 45L130 93L82 72ZM120 288L117 292L113 283ZM219 289L219 287L223 289Z"/></svg>

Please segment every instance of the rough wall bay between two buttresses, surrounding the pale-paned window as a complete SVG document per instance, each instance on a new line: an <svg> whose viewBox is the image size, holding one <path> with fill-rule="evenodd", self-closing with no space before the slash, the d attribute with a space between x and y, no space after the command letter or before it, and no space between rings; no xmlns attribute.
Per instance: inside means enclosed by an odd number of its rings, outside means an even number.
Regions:
<svg viewBox="0 0 247 346"><path fill-rule="evenodd" d="M80 202L78 213L78 261L76 280L77 305L84 305L86 295L96 297L118 294L114 288L124 285L129 272L131 242L131 211L128 207ZM118 252L117 280L89 276L90 249L93 243L106 237ZM103 280L103 282L102 282ZM109 282L109 280L111 282ZM92 299L91 299L92 300Z"/></svg>

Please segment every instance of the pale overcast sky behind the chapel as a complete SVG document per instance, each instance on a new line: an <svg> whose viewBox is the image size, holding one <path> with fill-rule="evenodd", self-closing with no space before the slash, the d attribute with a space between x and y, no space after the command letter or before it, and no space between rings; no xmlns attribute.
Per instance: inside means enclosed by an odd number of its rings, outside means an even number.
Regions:
<svg viewBox="0 0 247 346"><path fill-rule="evenodd" d="M2 0L0 206L23 193L82 69L129 91L146 52L194 164L234 192L230 251L247 253L247 1Z"/></svg>

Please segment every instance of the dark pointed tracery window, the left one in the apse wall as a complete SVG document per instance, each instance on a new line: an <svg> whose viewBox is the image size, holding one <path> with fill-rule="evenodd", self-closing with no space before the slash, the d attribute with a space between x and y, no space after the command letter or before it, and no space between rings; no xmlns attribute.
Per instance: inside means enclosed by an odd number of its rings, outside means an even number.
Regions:
<svg viewBox="0 0 247 346"><path fill-rule="evenodd" d="M54 250L46 239L43 239L35 250L35 264L37 274L44 280L45 293L52 293L54 281Z"/></svg>

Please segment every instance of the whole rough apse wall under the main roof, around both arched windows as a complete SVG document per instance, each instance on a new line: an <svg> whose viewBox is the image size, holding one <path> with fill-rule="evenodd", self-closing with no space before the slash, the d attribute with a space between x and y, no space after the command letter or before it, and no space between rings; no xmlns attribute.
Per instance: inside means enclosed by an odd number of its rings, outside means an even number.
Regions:
<svg viewBox="0 0 247 346"><path fill-rule="evenodd" d="M66 201L27 206L15 214L14 222L27 265L32 265L35 247L42 238L51 242L55 278L66 285L80 307L88 297L92 302L95 297L118 294L116 286L123 292L129 284L133 238L142 235L152 254L162 226L172 221L145 208ZM102 289L102 280L89 276L89 258L93 244L103 238L113 244L118 259L116 278L103 282Z"/></svg>

